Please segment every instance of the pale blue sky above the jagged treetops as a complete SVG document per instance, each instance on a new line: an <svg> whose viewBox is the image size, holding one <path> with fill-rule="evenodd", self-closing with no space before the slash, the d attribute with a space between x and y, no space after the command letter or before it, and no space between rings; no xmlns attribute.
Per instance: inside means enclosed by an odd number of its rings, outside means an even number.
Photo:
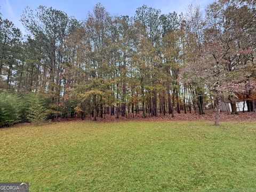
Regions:
<svg viewBox="0 0 256 192"><path fill-rule="evenodd" d="M100 2L106 7L107 11L111 15L134 15L135 10L146 4L148 6L160 9L162 13L169 13L176 11L186 12L187 5L198 4L201 9L213 2L213 0L0 0L0 12L2 13L2 18L7 18L19 27L22 33L25 33L25 29L22 27L20 20L20 15L26 6L31 9L36 9L39 5L52 6L55 9L65 11L68 15L73 15L76 19L85 19L87 13L93 9L93 6Z"/></svg>

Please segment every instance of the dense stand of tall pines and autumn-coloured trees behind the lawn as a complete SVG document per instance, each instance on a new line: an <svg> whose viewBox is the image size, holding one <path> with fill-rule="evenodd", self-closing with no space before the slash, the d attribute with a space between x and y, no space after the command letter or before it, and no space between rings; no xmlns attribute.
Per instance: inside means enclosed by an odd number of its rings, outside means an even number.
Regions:
<svg viewBox="0 0 256 192"><path fill-rule="evenodd" d="M0 15L0 126L86 116L172 117L244 101L255 111L256 3L219 0L184 14L100 3L79 21L27 7L26 35Z"/></svg>

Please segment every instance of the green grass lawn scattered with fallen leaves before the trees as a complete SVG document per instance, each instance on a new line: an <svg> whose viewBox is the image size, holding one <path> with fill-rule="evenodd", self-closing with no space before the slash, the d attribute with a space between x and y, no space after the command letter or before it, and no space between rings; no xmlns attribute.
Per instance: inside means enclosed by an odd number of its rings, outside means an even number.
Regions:
<svg viewBox="0 0 256 192"><path fill-rule="evenodd" d="M256 123L0 129L0 182L25 181L30 191L256 191Z"/></svg>

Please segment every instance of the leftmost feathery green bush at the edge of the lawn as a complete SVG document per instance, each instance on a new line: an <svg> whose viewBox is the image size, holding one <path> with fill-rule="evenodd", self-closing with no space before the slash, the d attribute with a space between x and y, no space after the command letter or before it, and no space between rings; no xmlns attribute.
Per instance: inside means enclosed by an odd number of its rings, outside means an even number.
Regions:
<svg viewBox="0 0 256 192"><path fill-rule="evenodd" d="M20 98L10 93L0 93L0 127L20 122Z"/></svg>

